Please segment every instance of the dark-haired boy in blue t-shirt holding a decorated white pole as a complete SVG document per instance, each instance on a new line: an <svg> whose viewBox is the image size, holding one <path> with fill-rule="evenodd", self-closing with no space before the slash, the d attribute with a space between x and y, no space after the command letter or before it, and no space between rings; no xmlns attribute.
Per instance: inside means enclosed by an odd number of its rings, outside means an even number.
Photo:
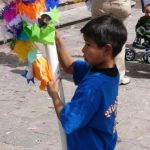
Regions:
<svg viewBox="0 0 150 150"><path fill-rule="evenodd" d="M81 33L85 61L75 62L56 33L60 64L73 74L78 85L71 102L63 104L60 100L60 79L49 83L48 92L65 130L68 150L114 150L119 85L115 57L127 39L127 31L120 20L105 15L88 22Z"/></svg>

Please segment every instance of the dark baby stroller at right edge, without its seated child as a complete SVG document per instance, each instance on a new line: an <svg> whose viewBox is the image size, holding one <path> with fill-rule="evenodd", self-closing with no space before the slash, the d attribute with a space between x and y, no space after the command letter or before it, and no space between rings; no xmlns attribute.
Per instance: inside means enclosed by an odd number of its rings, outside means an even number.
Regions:
<svg viewBox="0 0 150 150"><path fill-rule="evenodd" d="M141 0L143 12L144 12L144 6L150 3L148 1L149 0ZM149 32L149 30L150 29L148 29L148 32ZM141 32L141 31L139 31L139 32ZM143 60L146 63L150 63L150 39L145 40L144 36L139 36L139 35L136 36L135 41L132 44L132 47L126 48L125 60L133 61L136 56L135 48L137 48L137 49L145 49L145 52L143 54ZM141 33L141 35L142 35L142 33ZM141 43L142 40L144 40L143 43Z"/></svg>

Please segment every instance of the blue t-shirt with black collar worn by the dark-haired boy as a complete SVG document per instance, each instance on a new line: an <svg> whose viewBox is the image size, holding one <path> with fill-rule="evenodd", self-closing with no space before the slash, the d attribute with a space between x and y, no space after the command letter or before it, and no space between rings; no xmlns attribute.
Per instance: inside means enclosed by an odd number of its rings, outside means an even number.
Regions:
<svg viewBox="0 0 150 150"><path fill-rule="evenodd" d="M73 68L78 87L60 113L68 150L114 150L118 70L96 70L84 61L75 61Z"/></svg>

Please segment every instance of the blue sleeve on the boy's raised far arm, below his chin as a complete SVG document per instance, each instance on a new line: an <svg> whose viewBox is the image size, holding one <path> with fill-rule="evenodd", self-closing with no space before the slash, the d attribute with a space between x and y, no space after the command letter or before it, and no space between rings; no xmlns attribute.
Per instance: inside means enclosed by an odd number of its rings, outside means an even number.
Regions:
<svg viewBox="0 0 150 150"><path fill-rule="evenodd" d="M79 85L89 69L90 65L82 60L73 63L73 79L76 85Z"/></svg>

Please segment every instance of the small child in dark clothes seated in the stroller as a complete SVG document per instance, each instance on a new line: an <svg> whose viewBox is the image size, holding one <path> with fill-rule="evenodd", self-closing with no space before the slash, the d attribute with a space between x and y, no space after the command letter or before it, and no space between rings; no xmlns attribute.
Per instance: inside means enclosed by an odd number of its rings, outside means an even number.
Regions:
<svg viewBox="0 0 150 150"><path fill-rule="evenodd" d="M138 20L136 24L136 39L133 42L133 47L150 48L150 4L144 7L145 15ZM144 43L141 46L141 39L144 38ZM143 48L144 48L143 47Z"/></svg>

